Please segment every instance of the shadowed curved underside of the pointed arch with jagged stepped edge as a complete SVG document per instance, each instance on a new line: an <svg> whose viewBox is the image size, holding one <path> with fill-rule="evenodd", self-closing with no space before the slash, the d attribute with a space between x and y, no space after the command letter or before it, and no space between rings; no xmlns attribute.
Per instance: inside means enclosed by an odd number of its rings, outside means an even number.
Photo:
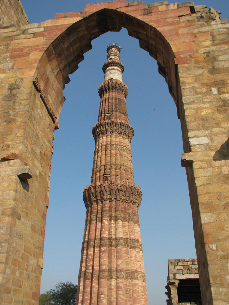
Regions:
<svg viewBox="0 0 229 305"><path fill-rule="evenodd" d="M122 27L128 30L130 36L137 38L140 47L157 60L158 71L165 78L169 92L177 103L175 55L168 41L155 27L142 20L116 10L102 9L73 23L61 33L45 50L38 64L37 77L45 93L50 94L50 90L58 90L59 103L58 106L56 105L58 114L62 107L62 91L65 84L70 81L68 74L78 69L78 64L84 59L83 54L92 49L91 41L108 31L118 32ZM48 69L47 64L49 64ZM41 68L39 68L40 65ZM44 68L46 73L42 75ZM50 88L47 82L49 83L53 75L58 86ZM47 76L49 76L48 80ZM52 81L51 83L53 85Z"/></svg>

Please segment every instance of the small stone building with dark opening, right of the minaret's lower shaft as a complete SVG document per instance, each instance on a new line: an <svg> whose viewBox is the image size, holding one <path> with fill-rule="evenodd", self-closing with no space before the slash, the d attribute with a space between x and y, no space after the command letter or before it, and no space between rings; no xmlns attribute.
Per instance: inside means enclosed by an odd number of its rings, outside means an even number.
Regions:
<svg viewBox="0 0 229 305"><path fill-rule="evenodd" d="M196 258L169 260L167 305L202 304Z"/></svg>

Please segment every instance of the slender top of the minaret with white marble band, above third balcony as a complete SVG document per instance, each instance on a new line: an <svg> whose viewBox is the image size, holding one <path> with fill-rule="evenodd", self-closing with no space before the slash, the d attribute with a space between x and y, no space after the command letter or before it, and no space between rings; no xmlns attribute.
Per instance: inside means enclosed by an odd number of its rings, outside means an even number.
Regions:
<svg viewBox="0 0 229 305"><path fill-rule="evenodd" d="M107 61L103 65L104 82L111 78L122 82L124 65L120 62L120 51L121 47L115 42L107 46Z"/></svg>

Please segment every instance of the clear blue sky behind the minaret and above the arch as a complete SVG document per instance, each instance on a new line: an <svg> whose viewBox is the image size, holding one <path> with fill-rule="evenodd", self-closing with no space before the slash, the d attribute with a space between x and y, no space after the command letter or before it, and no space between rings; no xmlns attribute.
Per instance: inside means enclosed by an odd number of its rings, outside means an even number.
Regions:
<svg viewBox="0 0 229 305"><path fill-rule="evenodd" d="M21 2L30 22L36 23L53 19L55 13L82 11L89 0ZM228 19L227 0L194 3L213 6L222 11L221 18ZM92 127L100 104L98 86L104 78L106 46L113 41L122 47L129 122L135 131L131 147L135 184L143 192L139 214L148 301L149 305L165 305L168 259L196 257L186 172L180 165L180 120L156 61L125 29L93 40L93 49L85 54L79 69L69 75L71 82L64 90L60 130L55 131L53 142L41 292L60 281L78 281L86 212L82 193L91 180Z"/></svg>

